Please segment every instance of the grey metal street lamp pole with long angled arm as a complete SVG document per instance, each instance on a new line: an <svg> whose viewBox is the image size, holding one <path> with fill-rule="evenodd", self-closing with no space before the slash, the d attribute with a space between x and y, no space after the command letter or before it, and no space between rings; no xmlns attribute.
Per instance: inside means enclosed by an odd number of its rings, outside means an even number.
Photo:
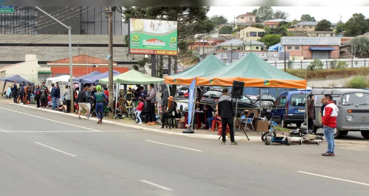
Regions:
<svg viewBox="0 0 369 196"><path fill-rule="evenodd" d="M70 111L72 111L74 113L74 89L73 89L73 64L72 64L72 27L71 26L67 26L64 25L62 22L58 21L58 19L54 18L53 16L51 16L50 14L48 14L47 12L45 12L44 10L40 9L38 6L34 6L36 9L40 10L42 13L44 13L46 16L50 17L51 19L53 19L54 21L58 22L59 24L61 24L62 26L64 26L65 28L68 29L68 42L69 42L69 83L70 83L70 96L72 97L70 99Z"/></svg>

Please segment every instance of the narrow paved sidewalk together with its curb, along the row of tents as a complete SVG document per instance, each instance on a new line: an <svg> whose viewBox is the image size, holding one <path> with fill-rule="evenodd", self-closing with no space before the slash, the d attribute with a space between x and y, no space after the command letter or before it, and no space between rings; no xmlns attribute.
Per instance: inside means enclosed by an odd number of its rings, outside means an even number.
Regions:
<svg viewBox="0 0 369 196"><path fill-rule="evenodd" d="M1 101L1 102L8 102L8 101ZM22 105L22 104L13 103L12 101L10 101L9 104L41 110L41 108L36 108L35 104ZM61 114L61 115L69 115L69 116L73 116L73 117L77 118L76 114L66 114L66 113L59 112L59 111L54 111L54 110L51 110L51 109L42 109L42 111L57 113L57 114ZM85 116L81 116L81 118L87 119L87 117L85 117ZM97 118L92 117L92 118L90 118L90 120L91 121L97 121ZM214 139L214 140L217 140L219 138L219 136L217 135L217 133L218 133L217 129L215 129L215 131L207 131L207 130L203 130L203 129L197 129L197 130L195 130L194 134L185 134L185 133L182 133L182 131L184 129L177 129L177 128L159 129L160 126L161 126L160 124L156 124L156 125L136 124L132 120L128 120L128 119L125 119L125 118L121 119L121 120L104 118L104 123L116 124L116 125L120 125L120 126L124 126L124 127L141 129L141 130L152 131L152 132L157 132L157 133L164 133L164 134L169 134L169 135L185 136L185 137L190 137L190 138ZM250 141L262 142L261 141L261 134L262 134L261 132L246 131L246 133L247 133L247 136L250 139ZM235 131L235 140L236 141L247 141L245 133L243 131Z"/></svg>

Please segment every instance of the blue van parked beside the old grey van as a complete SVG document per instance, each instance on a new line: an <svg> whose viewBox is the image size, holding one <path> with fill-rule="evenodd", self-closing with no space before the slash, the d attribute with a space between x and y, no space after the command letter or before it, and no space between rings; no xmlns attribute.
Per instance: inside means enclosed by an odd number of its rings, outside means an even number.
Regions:
<svg viewBox="0 0 369 196"><path fill-rule="evenodd" d="M301 127L304 123L306 94L304 91L284 92L276 99L275 109L271 110L272 121L286 128L288 124Z"/></svg>

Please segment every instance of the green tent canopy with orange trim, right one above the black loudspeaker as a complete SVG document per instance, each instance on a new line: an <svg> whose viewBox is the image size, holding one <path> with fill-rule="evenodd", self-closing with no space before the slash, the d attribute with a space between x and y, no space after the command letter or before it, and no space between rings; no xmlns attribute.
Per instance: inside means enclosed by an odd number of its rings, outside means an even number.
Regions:
<svg viewBox="0 0 369 196"><path fill-rule="evenodd" d="M232 86L233 81L245 87L306 89L307 81L265 62L253 52L215 72L197 77L198 86Z"/></svg>

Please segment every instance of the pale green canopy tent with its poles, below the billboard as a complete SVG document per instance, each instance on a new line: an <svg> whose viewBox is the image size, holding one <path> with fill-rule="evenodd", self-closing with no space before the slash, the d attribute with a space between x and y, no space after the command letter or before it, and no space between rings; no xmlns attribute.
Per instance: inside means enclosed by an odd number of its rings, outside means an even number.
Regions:
<svg viewBox="0 0 369 196"><path fill-rule="evenodd" d="M157 77L151 77L150 75L146 75L146 74L143 74L143 73L140 73L140 72L137 72L135 70L130 70L128 72L125 72L125 73L122 73L122 74L119 74L119 75L115 75L113 76L113 84L115 84L117 86L116 88L116 95L120 95L120 92L119 90L121 89L121 85L124 85L124 92L126 92L126 85L138 85L138 84L142 84L142 85L150 85L151 83L153 84L157 84L157 90L156 90L156 100L160 100L160 96L159 96L159 93L160 92L160 88L159 88L159 84L162 83L164 81L163 78L157 78ZM109 78L106 77L106 78L102 78L102 79L99 79L98 80L99 83L101 84L108 84L109 83ZM120 106L126 106L128 108L120 108L121 111L117 111L116 110L116 113L118 112L123 112L122 110L124 111L127 111L128 113L128 110L129 112L131 113L131 109L133 109L134 107L132 106L132 100L131 101L128 101L126 102L126 100L124 100L124 95L122 98L120 98L118 100L118 97L119 96L116 96L116 99L115 99L115 108L117 108L117 103L119 101L120 103ZM125 104L123 104L125 103ZM158 107L159 104L157 104L157 109L159 111L159 107ZM117 115L116 115L117 116Z"/></svg>

